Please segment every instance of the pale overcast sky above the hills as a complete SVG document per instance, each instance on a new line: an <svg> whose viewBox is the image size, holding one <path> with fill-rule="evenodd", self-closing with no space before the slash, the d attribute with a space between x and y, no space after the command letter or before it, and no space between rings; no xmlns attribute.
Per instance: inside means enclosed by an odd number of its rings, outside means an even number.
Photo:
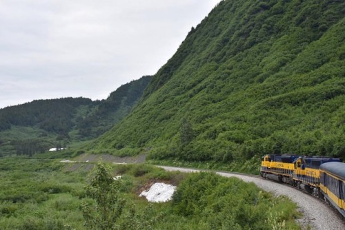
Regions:
<svg viewBox="0 0 345 230"><path fill-rule="evenodd" d="M105 99L155 74L220 0L0 0L0 108Z"/></svg>

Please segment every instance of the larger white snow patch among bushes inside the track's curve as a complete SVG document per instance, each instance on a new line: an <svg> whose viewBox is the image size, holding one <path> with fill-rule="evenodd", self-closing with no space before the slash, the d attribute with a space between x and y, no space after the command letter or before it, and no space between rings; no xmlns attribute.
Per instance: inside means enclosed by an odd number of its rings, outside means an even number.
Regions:
<svg viewBox="0 0 345 230"><path fill-rule="evenodd" d="M150 202L167 202L172 199L175 190L176 186L174 185L155 183L150 189L143 191L139 196L146 196L146 199Z"/></svg>

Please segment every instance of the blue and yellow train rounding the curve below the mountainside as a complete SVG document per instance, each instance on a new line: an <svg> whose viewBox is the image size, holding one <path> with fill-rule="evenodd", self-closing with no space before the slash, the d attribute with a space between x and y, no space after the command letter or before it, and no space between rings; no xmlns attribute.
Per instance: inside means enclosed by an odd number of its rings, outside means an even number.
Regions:
<svg viewBox="0 0 345 230"><path fill-rule="evenodd" d="M339 158L266 154L260 174L304 189L333 205L345 218L345 163Z"/></svg>

